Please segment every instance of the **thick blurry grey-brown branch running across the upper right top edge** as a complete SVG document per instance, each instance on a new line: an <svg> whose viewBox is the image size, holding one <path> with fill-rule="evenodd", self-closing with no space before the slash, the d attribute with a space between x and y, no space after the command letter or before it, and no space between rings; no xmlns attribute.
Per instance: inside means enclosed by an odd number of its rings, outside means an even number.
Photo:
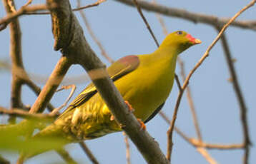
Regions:
<svg viewBox="0 0 256 164"><path fill-rule="evenodd" d="M134 6L132 0L116 0L127 4L129 6ZM212 26L216 25L224 25L230 20L230 18L219 18L217 16L207 15L207 14L199 14L191 11L186 11L184 9L176 9L172 7L162 6L159 4L152 4L147 1L137 0L139 6L142 9L147 11L154 11L159 14L164 14L165 16L173 16L181 19L185 19L187 21L192 21L194 23L200 22L202 24L210 24ZM244 29L256 30L256 21L233 21L230 26L236 26Z"/></svg>

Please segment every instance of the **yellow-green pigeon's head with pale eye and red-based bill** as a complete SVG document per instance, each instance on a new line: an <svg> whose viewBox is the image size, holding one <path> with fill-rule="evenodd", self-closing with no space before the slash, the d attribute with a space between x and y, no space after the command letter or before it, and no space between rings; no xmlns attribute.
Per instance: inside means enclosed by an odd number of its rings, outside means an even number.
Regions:
<svg viewBox="0 0 256 164"><path fill-rule="evenodd" d="M190 46L201 42L202 41L195 39L185 31L175 31L164 39L159 48L175 49L177 50L177 53L182 53L182 51L186 50Z"/></svg>

